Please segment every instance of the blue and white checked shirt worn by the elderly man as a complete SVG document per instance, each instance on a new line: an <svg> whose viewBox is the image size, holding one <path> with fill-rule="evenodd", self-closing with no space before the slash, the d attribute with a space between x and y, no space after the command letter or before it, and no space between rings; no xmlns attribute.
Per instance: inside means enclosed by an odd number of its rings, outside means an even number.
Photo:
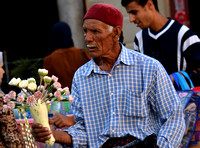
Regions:
<svg viewBox="0 0 200 148"><path fill-rule="evenodd" d="M163 66L123 45L110 73L93 59L80 67L72 95L77 123L67 132L73 147L98 148L110 137L143 140L156 133L159 147L177 148L184 135L181 104Z"/></svg>

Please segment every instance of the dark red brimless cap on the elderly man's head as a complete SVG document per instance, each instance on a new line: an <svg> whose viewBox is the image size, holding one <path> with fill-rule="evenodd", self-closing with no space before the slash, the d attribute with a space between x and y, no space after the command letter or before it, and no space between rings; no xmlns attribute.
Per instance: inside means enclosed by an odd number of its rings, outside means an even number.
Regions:
<svg viewBox="0 0 200 148"><path fill-rule="evenodd" d="M123 27L123 15L114 6L104 3L97 3L89 7L83 20L97 19L111 26Z"/></svg>

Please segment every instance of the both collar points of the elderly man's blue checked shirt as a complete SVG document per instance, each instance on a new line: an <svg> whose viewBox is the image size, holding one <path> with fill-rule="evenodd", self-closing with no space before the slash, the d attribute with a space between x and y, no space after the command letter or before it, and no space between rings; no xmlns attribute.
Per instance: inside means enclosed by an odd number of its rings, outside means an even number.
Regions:
<svg viewBox="0 0 200 148"><path fill-rule="evenodd" d="M129 54L131 52L131 49L126 48L121 43L120 43L120 45L122 47L122 50L121 50L121 53L119 54L119 57L113 67L119 65L121 62L124 63L125 65L133 65L134 58L132 56L130 56L130 54ZM91 58L90 62L88 63L88 67L85 72L85 76L89 76L92 72L106 74L106 72L100 70L100 68L94 62L93 58Z"/></svg>

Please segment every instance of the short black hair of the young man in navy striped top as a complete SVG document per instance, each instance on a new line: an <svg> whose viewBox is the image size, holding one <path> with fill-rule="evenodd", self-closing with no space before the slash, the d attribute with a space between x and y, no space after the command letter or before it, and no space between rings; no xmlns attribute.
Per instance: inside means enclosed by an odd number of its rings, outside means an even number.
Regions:
<svg viewBox="0 0 200 148"><path fill-rule="evenodd" d="M136 2L139 5L141 5L142 7L144 7L146 5L147 1L148 0L121 0L121 4L122 4L122 6L126 7L129 3ZM154 4L156 10L159 11L157 0L152 0L152 2Z"/></svg>

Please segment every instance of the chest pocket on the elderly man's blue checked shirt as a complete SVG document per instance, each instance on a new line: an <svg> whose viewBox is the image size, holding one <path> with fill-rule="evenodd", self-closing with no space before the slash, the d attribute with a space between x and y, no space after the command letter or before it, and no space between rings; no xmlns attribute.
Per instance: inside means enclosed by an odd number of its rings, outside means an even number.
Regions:
<svg viewBox="0 0 200 148"><path fill-rule="evenodd" d="M145 103L145 96L143 93L133 92L126 90L126 98L124 99L124 115L125 116L136 116L136 117L147 117L148 108Z"/></svg>

